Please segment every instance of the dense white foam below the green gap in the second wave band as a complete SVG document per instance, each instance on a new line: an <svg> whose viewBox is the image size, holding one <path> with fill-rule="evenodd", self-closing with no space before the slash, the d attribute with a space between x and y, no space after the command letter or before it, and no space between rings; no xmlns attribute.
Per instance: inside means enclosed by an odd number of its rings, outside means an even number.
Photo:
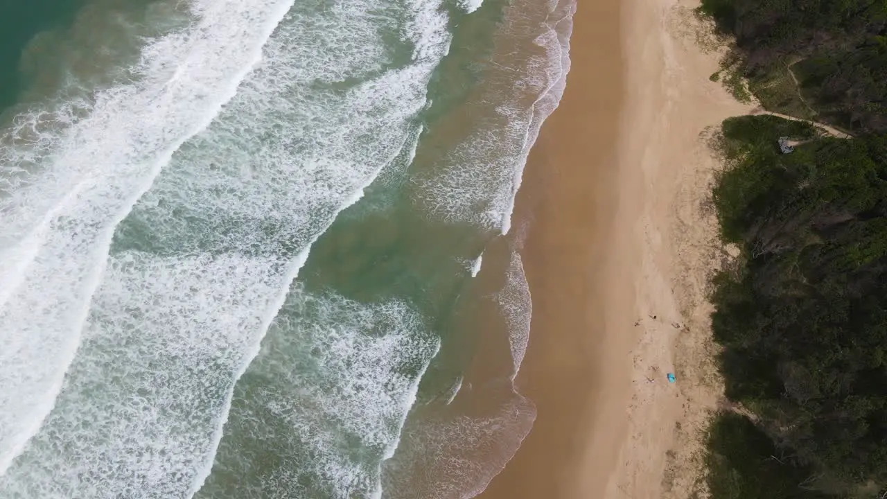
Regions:
<svg viewBox="0 0 887 499"><path fill-rule="evenodd" d="M254 304L239 297L269 281L271 267L259 263L236 255L115 257L66 389L0 480L3 496L184 496L232 383L216 375L242 363L251 339L231 331L258 327L248 310ZM172 300L180 305L151 306ZM195 300L230 313L192 308Z"/></svg>

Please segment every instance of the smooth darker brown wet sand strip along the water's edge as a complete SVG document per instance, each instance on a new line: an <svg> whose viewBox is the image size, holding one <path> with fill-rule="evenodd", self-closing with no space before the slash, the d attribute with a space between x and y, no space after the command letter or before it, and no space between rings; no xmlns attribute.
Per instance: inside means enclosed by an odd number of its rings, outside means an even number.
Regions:
<svg viewBox="0 0 887 499"><path fill-rule="evenodd" d="M632 331L608 322L631 316L633 289L631 279L614 287L604 276L632 257L602 242L614 236L618 210L620 13L618 0L579 0L567 88L524 171L515 227L527 227L522 256L533 315L518 386L538 416L484 499L576 497L586 481L604 483L616 465ZM600 410L606 407L612 410ZM597 457L590 460L590 452Z"/></svg>

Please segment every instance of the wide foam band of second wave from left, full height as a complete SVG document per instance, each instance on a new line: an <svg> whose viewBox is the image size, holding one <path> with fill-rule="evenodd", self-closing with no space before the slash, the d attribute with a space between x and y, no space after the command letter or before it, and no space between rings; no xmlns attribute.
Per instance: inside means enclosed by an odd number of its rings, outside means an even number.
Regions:
<svg viewBox="0 0 887 499"><path fill-rule="evenodd" d="M117 227L58 403L0 478L0 495L137 499L200 489L234 384L307 250L416 128L449 42L438 7L294 6L263 63ZM254 9L219 15L243 22L260 15ZM382 20L412 48L409 63L396 64ZM236 52L219 50L210 55ZM199 62L186 61L169 69L169 85ZM341 416L363 424L361 414ZM75 438L59 437L68 434Z"/></svg>

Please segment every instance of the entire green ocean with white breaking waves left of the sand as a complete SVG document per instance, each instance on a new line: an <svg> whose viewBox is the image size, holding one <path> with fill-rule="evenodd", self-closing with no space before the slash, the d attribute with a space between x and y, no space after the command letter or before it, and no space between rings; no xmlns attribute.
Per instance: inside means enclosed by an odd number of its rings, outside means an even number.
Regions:
<svg viewBox="0 0 887 499"><path fill-rule="evenodd" d="M483 491L574 9L0 6L0 497Z"/></svg>

